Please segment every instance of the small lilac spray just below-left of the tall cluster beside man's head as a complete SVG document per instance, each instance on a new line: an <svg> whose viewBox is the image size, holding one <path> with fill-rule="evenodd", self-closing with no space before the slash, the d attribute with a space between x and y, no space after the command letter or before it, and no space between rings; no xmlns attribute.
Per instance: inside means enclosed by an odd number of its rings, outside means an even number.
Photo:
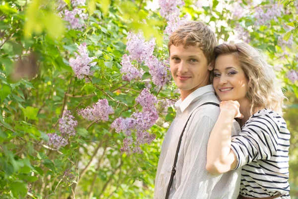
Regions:
<svg viewBox="0 0 298 199"><path fill-rule="evenodd" d="M123 55L122 61L121 61L122 68L120 69L120 72L123 74L122 79L125 81L131 81L134 79L142 78L144 71L143 69L138 70L134 67L134 65L131 63L130 56Z"/></svg>

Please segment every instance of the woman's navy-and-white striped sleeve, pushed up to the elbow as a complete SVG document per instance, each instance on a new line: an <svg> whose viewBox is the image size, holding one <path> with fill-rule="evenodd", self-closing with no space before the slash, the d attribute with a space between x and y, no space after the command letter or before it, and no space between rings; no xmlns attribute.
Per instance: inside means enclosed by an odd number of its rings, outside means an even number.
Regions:
<svg viewBox="0 0 298 199"><path fill-rule="evenodd" d="M231 149L238 162L235 169L276 155L279 131L280 122L270 112L252 116L239 135L232 136Z"/></svg>

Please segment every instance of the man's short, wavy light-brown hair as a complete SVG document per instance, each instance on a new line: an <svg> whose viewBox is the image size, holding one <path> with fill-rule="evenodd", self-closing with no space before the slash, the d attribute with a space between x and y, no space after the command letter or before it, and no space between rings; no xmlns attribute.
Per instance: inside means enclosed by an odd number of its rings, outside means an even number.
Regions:
<svg viewBox="0 0 298 199"><path fill-rule="evenodd" d="M214 48L217 46L217 39L214 32L202 21L188 21L181 25L170 36L168 49L171 45L183 45L200 47L210 64L214 60Z"/></svg>

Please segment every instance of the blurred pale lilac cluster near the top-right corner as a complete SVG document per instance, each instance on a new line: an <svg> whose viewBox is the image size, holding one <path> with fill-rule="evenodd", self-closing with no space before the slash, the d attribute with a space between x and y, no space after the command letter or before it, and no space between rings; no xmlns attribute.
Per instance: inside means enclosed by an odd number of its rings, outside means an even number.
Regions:
<svg viewBox="0 0 298 199"><path fill-rule="evenodd" d="M278 21L278 17L284 12L282 3L273 3L269 8L258 6L255 11L256 25L269 25L270 20Z"/></svg>

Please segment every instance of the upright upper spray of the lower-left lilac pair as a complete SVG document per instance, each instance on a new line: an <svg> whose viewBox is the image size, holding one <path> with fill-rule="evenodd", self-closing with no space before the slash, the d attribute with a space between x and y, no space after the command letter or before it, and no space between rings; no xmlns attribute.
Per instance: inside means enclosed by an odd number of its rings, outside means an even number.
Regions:
<svg viewBox="0 0 298 199"><path fill-rule="evenodd" d="M59 119L59 130L61 135L70 138L75 135L77 121L74 120L74 116L71 115L71 111L64 110L62 117Z"/></svg>

